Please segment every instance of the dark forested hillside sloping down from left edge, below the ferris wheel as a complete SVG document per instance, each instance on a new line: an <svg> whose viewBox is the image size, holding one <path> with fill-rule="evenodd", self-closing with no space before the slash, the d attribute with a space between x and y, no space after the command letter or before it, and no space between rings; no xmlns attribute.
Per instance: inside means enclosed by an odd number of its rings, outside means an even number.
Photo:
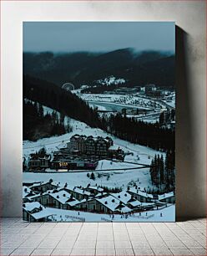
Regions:
<svg viewBox="0 0 207 256"><path fill-rule="evenodd" d="M23 97L38 101L63 115L85 122L91 127L99 127L98 113L87 103L56 84L29 76L23 77Z"/></svg>

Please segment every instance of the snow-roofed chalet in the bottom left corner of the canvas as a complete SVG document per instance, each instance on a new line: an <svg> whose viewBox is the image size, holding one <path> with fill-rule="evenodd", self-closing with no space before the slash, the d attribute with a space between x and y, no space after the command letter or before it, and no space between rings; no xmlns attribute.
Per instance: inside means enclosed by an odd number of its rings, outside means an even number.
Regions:
<svg viewBox="0 0 207 256"><path fill-rule="evenodd" d="M23 220L28 222L48 222L53 216L39 202L23 203Z"/></svg>

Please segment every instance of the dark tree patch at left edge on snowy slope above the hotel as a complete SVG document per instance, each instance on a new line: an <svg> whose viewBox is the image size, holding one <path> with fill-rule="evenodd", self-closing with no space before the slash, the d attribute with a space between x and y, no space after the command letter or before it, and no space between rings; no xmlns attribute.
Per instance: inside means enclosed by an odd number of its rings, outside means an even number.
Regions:
<svg viewBox="0 0 207 256"><path fill-rule="evenodd" d="M69 126L66 129L63 122L63 115L59 118L55 111L44 115L43 105L23 100L23 140L37 141L72 131Z"/></svg>

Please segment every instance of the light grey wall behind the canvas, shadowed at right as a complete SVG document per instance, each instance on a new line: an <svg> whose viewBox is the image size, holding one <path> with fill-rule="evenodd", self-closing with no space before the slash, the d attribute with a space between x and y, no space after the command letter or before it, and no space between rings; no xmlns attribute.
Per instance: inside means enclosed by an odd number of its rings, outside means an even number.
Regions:
<svg viewBox="0 0 207 256"><path fill-rule="evenodd" d="M30 2L30 1L29 1ZM175 21L177 35L178 217L205 215L204 1L2 3L2 215L22 214L22 22L26 20Z"/></svg>

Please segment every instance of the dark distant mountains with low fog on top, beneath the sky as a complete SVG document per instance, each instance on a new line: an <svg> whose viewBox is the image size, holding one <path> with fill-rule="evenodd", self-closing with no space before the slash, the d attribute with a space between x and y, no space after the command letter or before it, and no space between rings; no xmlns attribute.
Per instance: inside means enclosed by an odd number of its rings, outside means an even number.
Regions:
<svg viewBox="0 0 207 256"><path fill-rule="evenodd" d="M174 54L166 51L136 51L131 48L105 53L23 53L23 74L75 88L109 76L123 78L126 86L157 84L174 87Z"/></svg>

